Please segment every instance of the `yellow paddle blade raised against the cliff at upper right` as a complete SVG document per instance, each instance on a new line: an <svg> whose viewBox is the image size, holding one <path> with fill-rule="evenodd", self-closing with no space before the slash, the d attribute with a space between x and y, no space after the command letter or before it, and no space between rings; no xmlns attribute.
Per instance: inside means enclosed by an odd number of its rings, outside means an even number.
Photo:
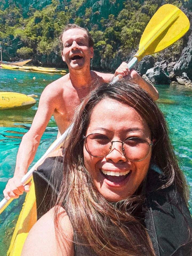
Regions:
<svg viewBox="0 0 192 256"><path fill-rule="evenodd" d="M135 54L138 61L172 45L189 30L189 19L176 6L161 6L147 24Z"/></svg>

